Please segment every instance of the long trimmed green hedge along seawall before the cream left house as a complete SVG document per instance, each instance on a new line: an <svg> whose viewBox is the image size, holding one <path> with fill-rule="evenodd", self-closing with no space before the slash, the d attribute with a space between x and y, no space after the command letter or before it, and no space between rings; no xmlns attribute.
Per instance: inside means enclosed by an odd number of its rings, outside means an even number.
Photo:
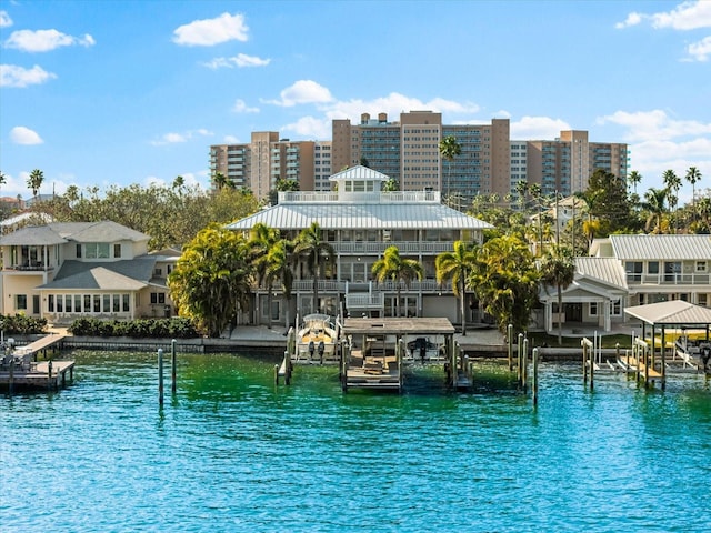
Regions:
<svg viewBox="0 0 711 533"><path fill-rule="evenodd" d="M134 339L193 339L200 336L189 319L172 318L158 320L77 319L69 332L78 336L131 336Z"/></svg>

